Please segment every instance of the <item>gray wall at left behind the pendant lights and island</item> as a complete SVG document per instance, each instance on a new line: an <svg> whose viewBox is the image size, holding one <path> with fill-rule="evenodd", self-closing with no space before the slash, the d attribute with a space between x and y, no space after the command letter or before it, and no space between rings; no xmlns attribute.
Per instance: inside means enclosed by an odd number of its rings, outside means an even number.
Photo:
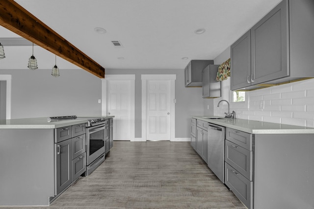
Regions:
<svg viewBox="0 0 314 209"><path fill-rule="evenodd" d="M0 70L12 75L11 119L60 115L101 115L100 78L82 70Z"/></svg>

